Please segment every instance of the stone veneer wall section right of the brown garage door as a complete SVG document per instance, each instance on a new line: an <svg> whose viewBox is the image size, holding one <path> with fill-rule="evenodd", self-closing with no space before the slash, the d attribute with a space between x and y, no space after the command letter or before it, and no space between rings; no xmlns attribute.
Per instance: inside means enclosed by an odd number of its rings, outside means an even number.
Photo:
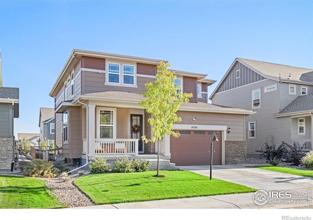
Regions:
<svg viewBox="0 0 313 220"><path fill-rule="evenodd" d="M225 141L225 164L239 164L246 160L246 141Z"/></svg>

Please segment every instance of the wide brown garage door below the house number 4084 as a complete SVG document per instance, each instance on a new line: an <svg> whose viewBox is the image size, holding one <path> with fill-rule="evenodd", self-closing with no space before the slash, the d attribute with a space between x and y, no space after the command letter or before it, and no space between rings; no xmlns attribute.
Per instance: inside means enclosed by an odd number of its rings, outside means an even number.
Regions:
<svg viewBox="0 0 313 220"><path fill-rule="evenodd" d="M210 165L210 131L176 131L178 138L171 136L171 162L178 166ZM222 164L222 132L216 132L219 141L213 141L213 165Z"/></svg>

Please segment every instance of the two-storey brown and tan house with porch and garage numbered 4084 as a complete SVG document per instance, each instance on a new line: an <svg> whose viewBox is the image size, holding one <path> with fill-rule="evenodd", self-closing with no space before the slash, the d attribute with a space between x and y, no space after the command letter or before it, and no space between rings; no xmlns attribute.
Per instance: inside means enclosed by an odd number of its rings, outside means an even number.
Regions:
<svg viewBox="0 0 313 220"><path fill-rule="evenodd" d="M153 133L147 121L152 115L138 103L160 61L72 51L49 93L55 100L55 141L66 162L75 162L80 155L83 164L94 156L156 156L155 145L140 139ZM176 165L209 164L213 132L219 139L214 142L213 164L245 159L245 116L254 112L208 104L207 87L216 81L205 79L206 74L175 74L176 84L194 97L177 112L182 121L174 128L180 137L163 138L162 159Z"/></svg>

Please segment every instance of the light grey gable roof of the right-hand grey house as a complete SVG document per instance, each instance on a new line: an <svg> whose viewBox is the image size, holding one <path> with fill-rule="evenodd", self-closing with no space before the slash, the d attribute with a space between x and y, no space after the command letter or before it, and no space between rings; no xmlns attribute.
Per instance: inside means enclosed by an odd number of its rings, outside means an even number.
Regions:
<svg viewBox="0 0 313 220"><path fill-rule="evenodd" d="M255 71L264 78L273 79L273 80L286 80L292 82L309 82L313 83L313 69L301 68L295 66L286 66L281 64L273 64L268 62L248 60L243 58L236 58L232 65L228 68L224 77L214 89L209 99L212 99L215 92L223 85L224 80L227 78L233 67L236 63L239 62L251 70Z"/></svg>

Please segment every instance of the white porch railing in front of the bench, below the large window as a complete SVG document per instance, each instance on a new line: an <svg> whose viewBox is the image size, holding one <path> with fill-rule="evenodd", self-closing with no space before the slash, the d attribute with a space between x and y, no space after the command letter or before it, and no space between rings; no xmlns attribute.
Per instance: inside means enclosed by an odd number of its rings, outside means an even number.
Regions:
<svg viewBox="0 0 313 220"><path fill-rule="evenodd" d="M138 139L95 139L96 155L138 155Z"/></svg>

